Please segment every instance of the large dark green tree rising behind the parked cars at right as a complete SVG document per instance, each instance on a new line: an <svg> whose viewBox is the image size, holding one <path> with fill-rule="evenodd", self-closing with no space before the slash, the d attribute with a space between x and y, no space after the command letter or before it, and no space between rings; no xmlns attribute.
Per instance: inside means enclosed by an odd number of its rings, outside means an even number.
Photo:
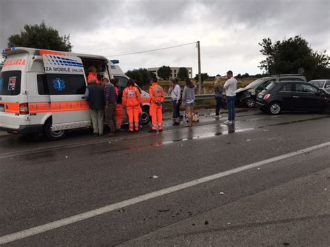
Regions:
<svg viewBox="0 0 330 247"><path fill-rule="evenodd" d="M329 56L326 51L313 51L308 42L299 35L288 40L278 40L274 44L270 38L264 38L259 45L262 47L262 55L267 56L260 62L259 67L269 74L297 73L303 68L306 78L310 80L329 71Z"/></svg>

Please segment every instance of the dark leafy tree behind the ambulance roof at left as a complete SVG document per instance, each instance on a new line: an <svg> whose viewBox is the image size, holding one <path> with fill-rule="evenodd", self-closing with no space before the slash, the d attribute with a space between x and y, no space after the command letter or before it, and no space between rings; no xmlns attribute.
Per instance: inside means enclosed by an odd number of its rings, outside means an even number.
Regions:
<svg viewBox="0 0 330 247"><path fill-rule="evenodd" d="M60 36L58 31L45 22L24 26L20 34L10 35L8 47L30 47L52 49L56 51L72 51L70 35Z"/></svg>

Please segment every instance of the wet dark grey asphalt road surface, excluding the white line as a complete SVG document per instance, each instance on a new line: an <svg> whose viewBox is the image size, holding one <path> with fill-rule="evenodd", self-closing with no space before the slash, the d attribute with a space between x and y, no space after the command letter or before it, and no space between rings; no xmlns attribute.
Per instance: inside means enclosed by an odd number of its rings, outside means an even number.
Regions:
<svg viewBox="0 0 330 247"><path fill-rule="evenodd" d="M0 236L330 141L330 115L243 111L228 127L200 113L162 134L1 134ZM7 245L329 246L329 184L324 145Z"/></svg>

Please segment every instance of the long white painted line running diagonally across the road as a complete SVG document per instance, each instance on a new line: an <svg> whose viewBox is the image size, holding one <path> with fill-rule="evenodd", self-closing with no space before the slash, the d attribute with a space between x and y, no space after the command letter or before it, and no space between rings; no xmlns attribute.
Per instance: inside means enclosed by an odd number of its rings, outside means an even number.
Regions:
<svg viewBox="0 0 330 247"><path fill-rule="evenodd" d="M298 151L295 151L295 152L289 152L288 154L283 154L283 155L280 155L280 156L277 156L277 157L273 157L271 159L265 159L263 161L258 161L256 163L252 163L252 164L249 164L249 165L246 165L246 166L241 166L239 168L234 168L232 170L226 170L226 171L221 172L221 173L217 173L217 174L210 175L210 176L207 176L207 177L202 177L202 178L199 178L197 180L193 180L193 181L190 181L190 182L185 182L183 184L178 184L178 185L175 185L175 186L171 186L169 188L161 189L159 191L148 193L146 195L137 196L137 197L129 199L129 200L124 200L122 202L116 202L116 203L113 203L111 205L108 205L108 206L105 206L105 207L100 207L98 209L94 209L94 210L91 210L91 211L88 211L88 212L85 212L85 213L82 213L82 214L77 214L77 215L70 216L68 218L63 218L63 219L58 220L58 221L53 221L51 223L47 223L47 224L44 224L44 225L38 225L34 228L29 228L29 229L26 229L26 230L22 230L22 231L19 231L19 232L8 234L8 235L0 237L0 244L7 244L7 243L10 243L10 242L18 240L18 239L24 239L25 237L30 237L30 236L33 236L33 235L36 235L36 234L40 234L42 232L47 232L49 230L54 230L56 228L61 228L62 226L70 225L70 224L76 223L78 221L83 221L83 220L86 220L87 218L92 218L94 216L98 216L98 215L101 215L101 214L106 214L106 213L112 212L114 210L123 208L123 207L128 207L128 206L134 205L134 204L139 203L139 202L150 200L152 198L157 198L159 196L164 196L164 195L167 195L169 193L180 191L182 189L187 189L191 186L196 186L198 184L202 184L202 183L205 183L205 182L210 182L212 180L217 180L220 177L226 177L228 175L232 175L232 174L235 174L235 173L242 172L243 170L256 168L258 166L264 166L266 164L269 164L269 163L272 163L272 162L275 162L275 161L280 161L282 159L288 159L290 157L294 157L294 156L299 155L299 154L304 154L305 152L311 152L313 150L317 150L317 149L320 149L320 148L325 148L325 147L328 147L329 145L330 145L330 142L327 142L327 143L322 143L320 145L315 145L315 146L310 147L310 148L305 148L303 150L298 150Z"/></svg>

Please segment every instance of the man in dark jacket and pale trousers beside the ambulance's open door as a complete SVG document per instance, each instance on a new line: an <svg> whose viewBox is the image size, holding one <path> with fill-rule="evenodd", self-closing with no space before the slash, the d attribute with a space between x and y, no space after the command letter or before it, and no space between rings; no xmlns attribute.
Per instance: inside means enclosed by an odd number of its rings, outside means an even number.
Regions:
<svg viewBox="0 0 330 247"><path fill-rule="evenodd" d="M88 81L89 85L86 88L85 98L88 101L89 113L93 124L93 132L95 136L102 136L103 134L103 115L104 115L104 90L100 84L96 83L93 78Z"/></svg>

